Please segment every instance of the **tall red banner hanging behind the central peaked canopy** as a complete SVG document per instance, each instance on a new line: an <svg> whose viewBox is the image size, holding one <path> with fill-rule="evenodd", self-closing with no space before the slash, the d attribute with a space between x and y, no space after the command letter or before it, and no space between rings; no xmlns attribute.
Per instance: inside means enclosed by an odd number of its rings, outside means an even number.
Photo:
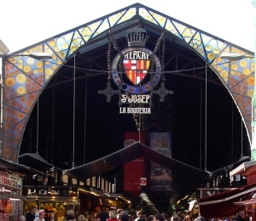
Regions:
<svg viewBox="0 0 256 221"><path fill-rule="evenodd" d="M139 132L125 133L125 147L139 141ZM146 144L146 133L140 133L140 143ZM141 191L141 178L144 174L144 157L141 156L124 165L124 190L129 192Z"/></svg>

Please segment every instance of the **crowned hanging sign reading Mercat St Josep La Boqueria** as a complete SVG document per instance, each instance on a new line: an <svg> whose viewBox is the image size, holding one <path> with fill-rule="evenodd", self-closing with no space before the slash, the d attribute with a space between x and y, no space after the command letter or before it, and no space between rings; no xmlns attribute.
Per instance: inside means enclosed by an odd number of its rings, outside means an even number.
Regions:
<svg viewBox="0 0 256 221"><path fill-rule="evenodd" d="M145 48L147 31L141 27L131 28L125 36L129 48L120 51L111 31L108 32L109 45L113 45L118 54L111 62L111 47L108 47L108 83L107 88L99 91L99 94L106 95L108 102L114 94L119 94L120 114L151 114L153 94L158 94L160 101L164 101L167 94L173 93L165 88L164 83L166 79L161 65L165 51L163 38L164 34L152 51ZM163 49L159 59L156 52L161 42ZM118 90L113 90L110 80ZM160 88L154 90L160 81Z"/></svg>

